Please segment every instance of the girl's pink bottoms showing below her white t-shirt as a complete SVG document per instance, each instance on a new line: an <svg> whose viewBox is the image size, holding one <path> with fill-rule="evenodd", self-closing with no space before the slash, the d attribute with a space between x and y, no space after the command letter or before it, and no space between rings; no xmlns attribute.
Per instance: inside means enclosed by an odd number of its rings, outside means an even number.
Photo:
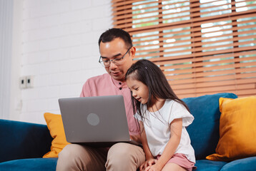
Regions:
<svg viewBox="0 0 256 171"><path fill-rule="evenodd" d="M157 155L157 160L161 155ZM177 153L172 156L172 158L167 163L175 163L188 171L192 171L195 167L195 163L187 160L187 157L182 153Z"/></svg>

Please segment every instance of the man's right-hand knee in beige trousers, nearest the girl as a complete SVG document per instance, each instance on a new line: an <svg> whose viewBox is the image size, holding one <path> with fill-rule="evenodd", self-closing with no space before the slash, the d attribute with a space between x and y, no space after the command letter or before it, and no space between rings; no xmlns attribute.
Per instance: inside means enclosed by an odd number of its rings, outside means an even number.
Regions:
<svg viewBox="0 0 256 171"><path fill-rule="evenodd" d="M145 161L142 147L119 142L113 145L107 154L107 171L136 171Z"/></svg>

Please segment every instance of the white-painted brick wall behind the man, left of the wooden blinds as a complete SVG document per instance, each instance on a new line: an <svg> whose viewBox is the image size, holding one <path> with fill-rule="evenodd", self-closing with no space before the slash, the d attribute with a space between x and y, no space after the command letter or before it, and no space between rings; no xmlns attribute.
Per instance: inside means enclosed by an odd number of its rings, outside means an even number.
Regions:
<svg viewBox="0 0 256 171"><path fill-rule="evenodd" d="M22 15L14 21L22 21L22 31L13 73L34 76L34 88L12 93L10 119L45 123L44 113L60 113L58 98L79 96L87 78L105 73L97 41L112 27L111 0L19 1Z"/></svg>

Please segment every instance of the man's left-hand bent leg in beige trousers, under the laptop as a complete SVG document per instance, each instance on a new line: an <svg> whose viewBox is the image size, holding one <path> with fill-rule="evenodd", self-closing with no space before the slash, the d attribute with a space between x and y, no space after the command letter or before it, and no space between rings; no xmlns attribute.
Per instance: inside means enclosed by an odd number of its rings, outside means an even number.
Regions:
<svg viewBox="0 0 256 171"><path fill-rule="evenodd" d="M59 153L56 171L100 171L105 170L107 150L70 144Z"/></svg>

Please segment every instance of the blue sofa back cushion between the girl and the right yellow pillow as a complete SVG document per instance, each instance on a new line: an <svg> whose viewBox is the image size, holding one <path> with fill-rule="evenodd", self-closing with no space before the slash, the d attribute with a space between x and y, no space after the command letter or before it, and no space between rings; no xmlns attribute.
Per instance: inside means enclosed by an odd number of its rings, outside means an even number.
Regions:
<svg viewBox="0 0 256 171"><path fill-rule="evenodd" d="M183 98L195 120L188 126L191 144L197 160L205 159L215 152L220 127L219 98L237 98L233 93L202 95L196 98Z"/></svg>

